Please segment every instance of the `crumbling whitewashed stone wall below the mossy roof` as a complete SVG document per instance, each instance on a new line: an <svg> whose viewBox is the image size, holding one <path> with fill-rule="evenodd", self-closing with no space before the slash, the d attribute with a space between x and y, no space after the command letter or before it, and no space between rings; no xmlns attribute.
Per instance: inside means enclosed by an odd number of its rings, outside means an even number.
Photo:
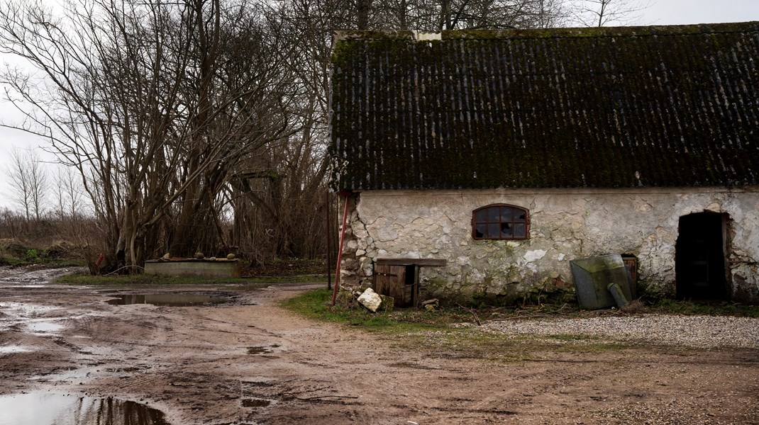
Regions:
<svg viewBox="0 0 759 425"><path fill-rule="evenodd" d="M569 261L633 254L640 285L675 294L679 218L729 214L733 297L759 302L759 187L743 189L494 189L368 191L354 195L342 280L370 283L376 258L442 258L422 267L430 295L501 295L573 288ZM530 238L474 240L471 212L510 204L530 213Z"/></svg>

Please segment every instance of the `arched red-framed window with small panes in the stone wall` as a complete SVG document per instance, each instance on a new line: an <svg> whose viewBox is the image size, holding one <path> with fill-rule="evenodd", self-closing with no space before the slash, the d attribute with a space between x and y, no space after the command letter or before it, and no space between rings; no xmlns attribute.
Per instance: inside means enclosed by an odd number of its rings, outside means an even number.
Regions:
<svg viewBox="0 0 759 425"><path fill-rule="evenodd" d="M513 205L487 205L472 211L474 239L528 239L528 211Z"/></svg>

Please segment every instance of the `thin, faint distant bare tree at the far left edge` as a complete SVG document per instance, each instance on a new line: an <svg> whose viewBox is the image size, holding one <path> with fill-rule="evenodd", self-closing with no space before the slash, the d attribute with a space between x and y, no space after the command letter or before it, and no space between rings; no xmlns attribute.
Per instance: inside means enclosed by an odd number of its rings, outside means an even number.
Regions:
<svg viewBox="0 0 759 425"><path fill-rule="evenodd" d="M24 211L27 221L32 218L39 221L44 214L48 189L47 174L39 155L33 151L14 149L5 175L11 181L12 198Z"/></svg>

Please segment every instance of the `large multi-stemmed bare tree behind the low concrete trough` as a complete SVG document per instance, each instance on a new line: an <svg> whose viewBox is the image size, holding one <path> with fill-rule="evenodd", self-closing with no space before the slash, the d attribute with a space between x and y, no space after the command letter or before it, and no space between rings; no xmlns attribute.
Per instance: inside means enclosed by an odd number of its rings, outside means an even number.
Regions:
<svg viewBox="0 0 759 425"><path fill-rule="evenodd" d="M288 46L254 5L3 6L0 48L37 71L6 70L8 100L33 105L23 130L78 170L118 263L201 248L235 164L291 131Z"/></svg>

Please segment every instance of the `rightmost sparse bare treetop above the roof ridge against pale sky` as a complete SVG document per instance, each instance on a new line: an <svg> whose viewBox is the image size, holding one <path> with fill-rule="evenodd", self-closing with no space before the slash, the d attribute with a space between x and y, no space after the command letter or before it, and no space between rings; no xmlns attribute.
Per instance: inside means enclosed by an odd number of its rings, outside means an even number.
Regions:
<svg viewBox="0 0 759 425"><path fill-rule="evenodd" d="M574 0L574 21L583 27L636 25L641 23L641 11L649 8L648 0Z"/></svg>

